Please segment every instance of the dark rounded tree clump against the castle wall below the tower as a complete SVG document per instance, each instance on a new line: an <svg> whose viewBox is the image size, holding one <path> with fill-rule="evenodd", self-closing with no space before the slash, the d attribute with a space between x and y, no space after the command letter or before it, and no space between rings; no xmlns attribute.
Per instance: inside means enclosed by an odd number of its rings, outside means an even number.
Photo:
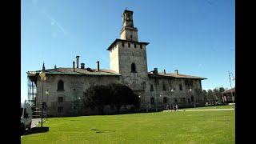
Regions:
<svg viewBox="0 0 256 144"><path fill-rule="evenodd" d="M99 113L103 114L105 106L115 107L119 113L122 106L133 105L136 108L139 106L138 95L135 95L130 87L111 83L106 86L96 85L91 86L84 93L85 106L94 110L98 108Z"/></svg>

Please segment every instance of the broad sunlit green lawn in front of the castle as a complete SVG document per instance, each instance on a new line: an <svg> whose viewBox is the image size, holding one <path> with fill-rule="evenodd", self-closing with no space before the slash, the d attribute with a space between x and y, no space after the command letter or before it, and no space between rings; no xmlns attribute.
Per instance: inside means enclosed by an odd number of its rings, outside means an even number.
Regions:
<svg viewBox="0 0 256 144"><path fill-rule="evenodd" d="M21 143L235 143L234 110L49 118L48 121L43 123L49 127L48 132L23 135Z"/></svg>

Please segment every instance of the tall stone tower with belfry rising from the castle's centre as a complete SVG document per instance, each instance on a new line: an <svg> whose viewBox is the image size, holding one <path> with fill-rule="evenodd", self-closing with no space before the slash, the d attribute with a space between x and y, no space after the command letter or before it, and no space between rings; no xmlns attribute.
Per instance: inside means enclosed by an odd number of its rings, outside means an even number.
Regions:
<svg viewBox="0 0 256 144"><path fill-rule="evenodd" d="M145 90L148 80L146 45L138 42L138 29L134 27L133 11L122 13L120 39L116 39L110 50L110 70L122 74L122 82L132 90Z"/></svg>

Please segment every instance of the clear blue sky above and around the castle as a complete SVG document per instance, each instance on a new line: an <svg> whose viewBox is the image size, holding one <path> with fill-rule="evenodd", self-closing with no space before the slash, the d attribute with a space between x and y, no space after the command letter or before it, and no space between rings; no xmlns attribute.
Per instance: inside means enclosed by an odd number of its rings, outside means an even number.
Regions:
<svg viewBox="0 0 256 144"><path fill-rule="evenodd" d="M21 1L21 102L30 70L72 67L110 69L107 47L120 38L123 10L134 11L148 71L207 78L202 89L230 88L235 76L234 0L26 0ZM232 86L235 81L232 81Z"/></svg>

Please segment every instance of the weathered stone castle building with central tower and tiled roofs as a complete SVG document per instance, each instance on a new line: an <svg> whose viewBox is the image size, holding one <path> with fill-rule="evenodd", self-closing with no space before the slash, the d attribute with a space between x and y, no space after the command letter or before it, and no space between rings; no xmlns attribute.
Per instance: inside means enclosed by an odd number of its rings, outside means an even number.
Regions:
<svg viewBox="0 0 256 144"><path fill-rule="evenodd" d="M94 85L122 83L138 95L140 110L163 110L167 105L176 104L180 108L204 106L201 81L206 78L179 74L178 70L166 73L166 70L158 72L158 68L154 68L149 72L148 44L138 41L133 11L124 10L120 38L106 49L110 51L110 70L101 69L100 62L96 62L95 69L86 68L85 63L79 67L77 56L73 67L46 69L46 81L39 76L42 70L28 71L28 98L38 109L42 101L46 102L48 115L91 114L90 109L81 106L83 92Z"/></svg>

